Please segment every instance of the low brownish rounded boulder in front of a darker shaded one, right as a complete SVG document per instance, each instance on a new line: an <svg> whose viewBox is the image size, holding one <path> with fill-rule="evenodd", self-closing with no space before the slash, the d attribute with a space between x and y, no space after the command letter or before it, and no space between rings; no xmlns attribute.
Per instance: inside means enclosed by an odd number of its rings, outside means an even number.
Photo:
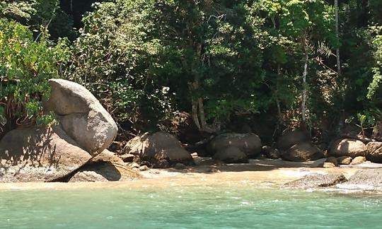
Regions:
<svg viewBox="0 0 382 229"><path fill-rule="evenodd" d="M291 161L318 160L323 157L323 152L312 143L297 143L282 153L282 158Z"/></svg>

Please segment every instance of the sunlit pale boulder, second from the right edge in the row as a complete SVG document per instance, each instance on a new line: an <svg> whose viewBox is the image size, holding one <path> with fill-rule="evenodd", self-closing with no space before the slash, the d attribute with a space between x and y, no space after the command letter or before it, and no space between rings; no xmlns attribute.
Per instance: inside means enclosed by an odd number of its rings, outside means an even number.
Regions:
<svg viewBox="0 0 382 229"><path fill-rule="evenodd" d="M332 157L349 156L355 158L366 154L366 146L356 139L339 139L330 146L328 155Z"/></svg>

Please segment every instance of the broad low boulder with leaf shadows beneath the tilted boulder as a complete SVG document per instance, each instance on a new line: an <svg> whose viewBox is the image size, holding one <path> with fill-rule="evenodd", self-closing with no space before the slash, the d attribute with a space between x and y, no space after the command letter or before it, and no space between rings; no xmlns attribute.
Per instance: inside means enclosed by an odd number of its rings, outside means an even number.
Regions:
<svg viewBox="0 0 382 229"><path fill-rule="evenodd" d="M59 126L13 129L0 141L0 182L59 180L91 157Z"/></svg>

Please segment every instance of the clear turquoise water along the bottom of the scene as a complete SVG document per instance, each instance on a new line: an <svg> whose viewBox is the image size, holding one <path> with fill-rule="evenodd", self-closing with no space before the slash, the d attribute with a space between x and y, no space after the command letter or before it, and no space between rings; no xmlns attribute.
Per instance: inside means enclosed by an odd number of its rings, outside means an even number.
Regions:
<svg viewBox="0 0 382 229"><path fill-rule="evenodd" d="M0 191L0 228L381 228L382 196L238 185Z"/></svg>

